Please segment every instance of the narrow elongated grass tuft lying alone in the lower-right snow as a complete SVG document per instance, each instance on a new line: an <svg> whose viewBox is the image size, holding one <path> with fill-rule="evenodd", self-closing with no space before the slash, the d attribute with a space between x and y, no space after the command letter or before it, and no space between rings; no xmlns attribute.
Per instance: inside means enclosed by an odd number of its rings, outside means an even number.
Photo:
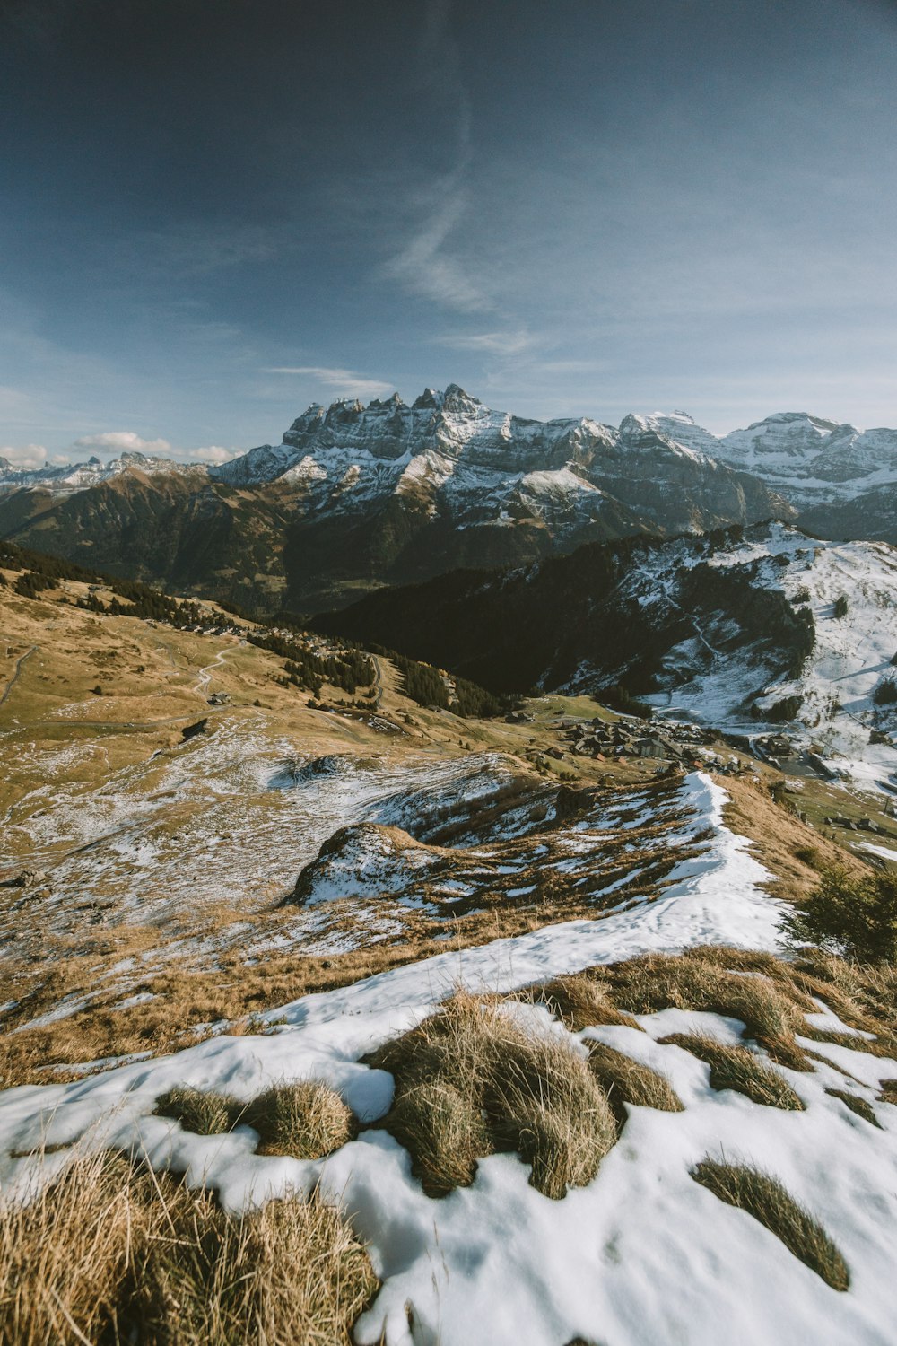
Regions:
<svg viewBox="0 0 897 1346"><path fill-rule="evenodd" d="M777 1178L748 1164L718 1163L709 1158L691 1170L691 1176L719 1201L753 1215L832 1289L849 1288L850 1272L838 1248Z"/></svg>

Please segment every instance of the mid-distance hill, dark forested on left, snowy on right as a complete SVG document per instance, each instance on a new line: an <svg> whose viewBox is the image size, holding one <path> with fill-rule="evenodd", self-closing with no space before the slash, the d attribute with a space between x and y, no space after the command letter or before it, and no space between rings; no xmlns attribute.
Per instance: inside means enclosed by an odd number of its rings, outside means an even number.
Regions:
<svg viewBox="0 0 897 1346"><path fill-rule="evenodd" d="M802 750L859 782L897 770L897 716L875 701L897 677L897 552L885 544L771 524L449 579L317 625L502 690L621 685L662 715L740 734L791 721Z"/></svg>

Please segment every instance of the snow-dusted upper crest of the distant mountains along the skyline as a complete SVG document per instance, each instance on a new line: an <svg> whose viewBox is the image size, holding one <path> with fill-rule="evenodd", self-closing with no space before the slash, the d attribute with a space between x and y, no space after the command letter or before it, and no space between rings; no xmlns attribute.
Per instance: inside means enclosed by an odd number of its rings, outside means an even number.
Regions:
<svg viewBox="0 0 897 1346"><path fill-rule="evenodd" d="M328 481L332 487L350 466L359 476L401 490L409 481L444 485L464 471L508 478L547 476L568 468L613 470L620 455L643 459L715 462L765 481L792 503L845 501L897 483L897 429L859 431L806 412L779 412L746 429L717 436L685 412L625 416L619 427L589 417L537 421L491 411L456 384L425 389L410 405L398 393L386 400L313 402L280 444L261 444L219 466L186 464L144 454L121 454L102 463L12 467L0 459L0 490L40 487L55 493L85 490L122 472L207 474L234 486L278 479ZM379 474L377 468L381 468ZM545 482L551 489L551 481ZM464 485L459 481L459 489Z"/></svg>

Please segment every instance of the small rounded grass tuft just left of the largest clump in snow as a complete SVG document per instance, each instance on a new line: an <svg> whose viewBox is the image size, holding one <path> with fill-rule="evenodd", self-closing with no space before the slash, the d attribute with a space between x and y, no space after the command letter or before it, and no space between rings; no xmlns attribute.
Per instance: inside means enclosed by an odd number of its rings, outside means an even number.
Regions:
<svg viewBox="0 0 897 1346"><path fill-rule="evenodd" d="M351 1108L317 1079L274 1085L253 1098L241 1116L260 1136L261 1155L323 1159L356 1135Z"/></svg>

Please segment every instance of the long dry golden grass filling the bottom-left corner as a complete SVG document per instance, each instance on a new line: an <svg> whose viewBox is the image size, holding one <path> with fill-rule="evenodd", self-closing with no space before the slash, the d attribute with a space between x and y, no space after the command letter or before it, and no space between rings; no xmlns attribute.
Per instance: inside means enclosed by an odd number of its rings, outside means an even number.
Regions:
<svg viewBox="0 0 897 1346"><path fill-rule="evenodd" d="M120 1156L73 1160L0 1207L9 1346L348 1346L377 1279L339 1214L273 1201L235 1219Z"/></svg>

